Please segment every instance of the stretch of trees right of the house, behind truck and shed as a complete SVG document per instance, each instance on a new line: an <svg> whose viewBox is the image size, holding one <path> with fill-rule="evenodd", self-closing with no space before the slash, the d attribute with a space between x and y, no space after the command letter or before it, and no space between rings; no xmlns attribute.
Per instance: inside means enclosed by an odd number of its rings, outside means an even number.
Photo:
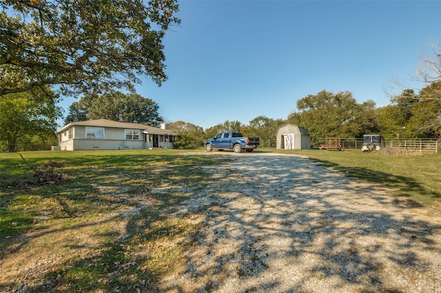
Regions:
<svg viewBox="0 0 441 293"><path fill-rule="evenodd" d="M376 108L373 100L358 103L350 91L333 93L326 89L296 102L296 110L286 119L258 116L242 124L225 121L202 129L178 121L170 128L183 138L183 146L201 146L206 138L223 131L241 131L261 140L276 140L277 130L286 123L305 127L311 141L327 136L362 138L365 133L381 133L384 138L441 138L441 81L435 81L417 94L404 89L391 97L390 105Z"/></svg>

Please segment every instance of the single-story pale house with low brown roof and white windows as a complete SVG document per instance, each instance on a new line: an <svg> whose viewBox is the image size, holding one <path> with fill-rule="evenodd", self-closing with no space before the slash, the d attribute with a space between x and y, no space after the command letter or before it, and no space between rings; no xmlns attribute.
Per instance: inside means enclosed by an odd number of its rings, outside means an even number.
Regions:
<svg viewBox="0 0 441 293"><path fill-rule="evenodd" d="M94 149L173 148L177 136L167 124L161 128L107 119L72 122L57 131L59 149L84 151Z"/></svg>

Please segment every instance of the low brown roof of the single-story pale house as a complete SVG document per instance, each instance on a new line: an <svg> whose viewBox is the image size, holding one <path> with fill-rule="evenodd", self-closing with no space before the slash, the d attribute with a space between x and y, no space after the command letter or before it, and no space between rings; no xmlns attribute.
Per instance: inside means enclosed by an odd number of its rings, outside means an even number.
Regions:
<svg viewBox="0 0 441 293"><path fill-rule="evenodd" d="M118 122L118 121L112 121L107 119L96 119L96 120L87 120L87 121L78 121L78 122L72 122L64 127L62 127L59 131L56 133L60 133L65 131L66 129L69 129L70 127L74 125L82 125L82 126L90 126L90 127L113 127L113 128L130 128L130 129L141 129L143 133L152 133L152 134L165 134L165 135L177 135L171 130L168 129L162 129L158 127L152 127L149 125L144 124L137 124L137 123L127 123L127 122Z"/></svg>

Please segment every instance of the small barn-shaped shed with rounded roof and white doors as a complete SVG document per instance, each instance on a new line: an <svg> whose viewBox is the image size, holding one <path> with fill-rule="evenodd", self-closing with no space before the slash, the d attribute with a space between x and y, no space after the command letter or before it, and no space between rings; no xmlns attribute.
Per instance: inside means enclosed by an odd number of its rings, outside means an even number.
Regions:
<svg viewBox="0 0 441 293"><path fill-rule="evenodd" d="M309 149L309 132L294 124L284 124L277 130L276 149Z"/></svg>

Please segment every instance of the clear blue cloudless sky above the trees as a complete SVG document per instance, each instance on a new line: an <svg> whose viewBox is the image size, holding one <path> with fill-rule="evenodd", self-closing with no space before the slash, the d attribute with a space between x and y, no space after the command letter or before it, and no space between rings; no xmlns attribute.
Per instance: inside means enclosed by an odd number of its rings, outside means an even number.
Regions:
<svg viewBox="0 0 441 293"><path fill-rule="evenodd" d="M225 120L286 119L298 99L322 89L383 107L393 80L410 83L428 42L441 41L441 1L179 5L181 25L163 41L168 80L158 87L143 78L136 91L157 102L167 122L204 129Z"/></svg>

